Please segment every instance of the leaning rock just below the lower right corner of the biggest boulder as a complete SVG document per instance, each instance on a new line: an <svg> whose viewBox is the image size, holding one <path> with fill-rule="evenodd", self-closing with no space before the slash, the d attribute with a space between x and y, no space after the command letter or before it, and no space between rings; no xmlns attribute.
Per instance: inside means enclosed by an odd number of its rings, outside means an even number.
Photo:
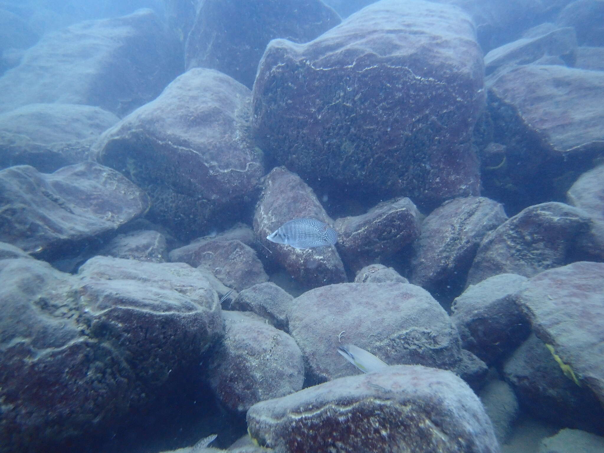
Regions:
<svg viewBox="0 0 604 453"><path fill-rule="evenodd" d="M488 198L445 202L423 220L422 234L414 245L411 283L440 298L457 296L481 240L506 220L503 206Z"/></svg>

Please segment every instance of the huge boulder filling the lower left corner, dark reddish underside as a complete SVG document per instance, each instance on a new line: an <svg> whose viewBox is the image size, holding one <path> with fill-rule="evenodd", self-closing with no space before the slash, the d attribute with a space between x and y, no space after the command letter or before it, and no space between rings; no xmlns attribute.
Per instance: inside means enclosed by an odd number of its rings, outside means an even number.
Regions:
<svg viewBox="0 0 604 453"><path fill-rule="evenodd" d="M89 446L222 334L210 281L187 265L96 257L73 276L5 259L0 279L2 453Z"/></svg>

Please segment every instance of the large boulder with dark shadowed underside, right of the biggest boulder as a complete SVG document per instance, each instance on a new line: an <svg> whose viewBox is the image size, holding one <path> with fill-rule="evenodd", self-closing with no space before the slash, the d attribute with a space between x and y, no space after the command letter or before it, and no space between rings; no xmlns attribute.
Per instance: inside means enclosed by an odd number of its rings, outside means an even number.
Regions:
<svg viewBox="0 0 604 453"><path fill-rule="evenodd" d="M492 74L487 88L475 138L506 151L501 164L481 167L484 194L510 214L564 199L568 181L604 152L604 72L521 65Z"/></svg>

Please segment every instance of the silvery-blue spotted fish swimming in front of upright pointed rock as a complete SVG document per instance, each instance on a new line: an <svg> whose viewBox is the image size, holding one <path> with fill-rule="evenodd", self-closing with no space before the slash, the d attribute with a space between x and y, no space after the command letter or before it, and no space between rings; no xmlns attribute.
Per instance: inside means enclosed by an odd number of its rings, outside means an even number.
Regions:
<svg viewBox="0 0 604 453"><path fill-rule="evenodd" d="M333 245L338 242L338 234L327 223L304 217L283 223L277 231L266 236L266 239L306 249Z"/></svg>

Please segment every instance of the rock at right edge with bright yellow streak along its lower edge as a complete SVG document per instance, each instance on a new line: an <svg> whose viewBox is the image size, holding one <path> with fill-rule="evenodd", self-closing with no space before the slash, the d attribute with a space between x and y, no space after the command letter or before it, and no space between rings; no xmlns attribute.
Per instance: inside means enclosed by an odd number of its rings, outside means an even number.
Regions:
<svg viewBox="0 0 604 453"><path fill-rule="evenodd" d="M518 304L567 374L604 402L604 263L541 272L528 280Z"/></svg>

